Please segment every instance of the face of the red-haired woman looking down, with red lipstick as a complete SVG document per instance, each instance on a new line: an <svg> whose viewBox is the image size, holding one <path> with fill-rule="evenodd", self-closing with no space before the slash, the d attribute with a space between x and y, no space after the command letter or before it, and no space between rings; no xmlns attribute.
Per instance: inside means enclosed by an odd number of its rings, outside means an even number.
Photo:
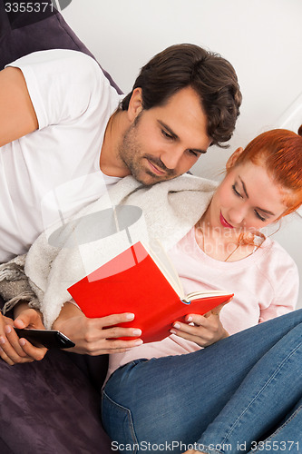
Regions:
<svg viewBox="0 0 302 454"><path fill-rule="evenodd" d="M285 191L273 183L265 168L242 163L219 185L204 220L210 227L256 232L287 210L284 198Z"/></svg>

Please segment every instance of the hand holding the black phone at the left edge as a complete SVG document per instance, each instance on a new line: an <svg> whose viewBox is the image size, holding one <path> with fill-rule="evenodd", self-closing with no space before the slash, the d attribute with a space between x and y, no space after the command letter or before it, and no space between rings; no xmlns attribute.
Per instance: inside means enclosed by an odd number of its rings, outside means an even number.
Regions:
<svg viewBox="0 0 302 454"><path fill-rule="evenodd" d="M41 315L34 309L29 309L27 304L21 303L18 306L17 318L15 321L5 316L0 316L0 358L7 364L21 364L42 360L47 351L44 347L34 347L29 341L17 336L16 328L35 328L43 330L44 325Z"/></svg>

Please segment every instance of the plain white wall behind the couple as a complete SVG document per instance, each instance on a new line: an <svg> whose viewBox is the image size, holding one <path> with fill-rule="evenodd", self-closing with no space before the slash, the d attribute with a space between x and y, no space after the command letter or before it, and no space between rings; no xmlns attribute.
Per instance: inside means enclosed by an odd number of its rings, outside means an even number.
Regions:
<svg viewBox="0 0 302 454"><path fill-rule="evenodd" d="M124 93L170 44L200 44L234 65L243 94L236 132L228 151L210 148L200 158L195 174L219 179L229 154L282 126L302 94L301 0L73 0L63 16ZM287 128L297 131L298 123L301 109ZM302 280L301 229L295 214L274 237L295 258Z"/></svg>

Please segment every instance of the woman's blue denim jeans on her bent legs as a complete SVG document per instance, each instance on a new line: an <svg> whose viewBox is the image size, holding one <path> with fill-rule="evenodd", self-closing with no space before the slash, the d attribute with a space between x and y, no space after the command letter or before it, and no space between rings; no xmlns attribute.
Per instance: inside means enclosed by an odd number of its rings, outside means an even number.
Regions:
<svg viewBox="0 0 302 454"><path fill-rule="evenodd" d="M132 361L102 394L112 448L302 452L301 344L299 310L203 350Z"/></svg>

